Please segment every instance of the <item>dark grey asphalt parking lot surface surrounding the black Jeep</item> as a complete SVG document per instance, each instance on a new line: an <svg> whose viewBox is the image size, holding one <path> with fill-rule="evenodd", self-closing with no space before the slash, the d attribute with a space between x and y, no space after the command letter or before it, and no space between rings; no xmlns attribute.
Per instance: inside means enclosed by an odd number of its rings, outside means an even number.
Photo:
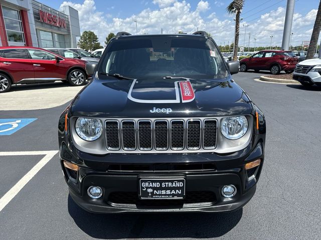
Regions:
<svg viewBox="0 0 321 240"><path fill-rule="evenodd" d="M321 87L254 80L260 75L233 75L264 112L267 135L256 194L232 213L88 213L68 196L58 162L58 117L69 98L52 107L53 99L42 95L51 107L45 109L3 108L0 239L320 239ZM50 86L33 86L32 94L55 89ZM29 86L19 92L23 87ZM5 135L1 123L19 120L24 126Z"/></svg>

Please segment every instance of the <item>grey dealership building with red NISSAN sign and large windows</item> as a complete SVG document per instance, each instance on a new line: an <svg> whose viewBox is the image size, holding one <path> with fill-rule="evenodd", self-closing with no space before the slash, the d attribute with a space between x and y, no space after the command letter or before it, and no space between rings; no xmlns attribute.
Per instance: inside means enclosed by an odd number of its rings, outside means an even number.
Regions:
<svg viewBox="0 0 321 240"><path fill-rule="evenodd" d="M35 0L0 0L0 46L77 47L78 11Z"/></svg>

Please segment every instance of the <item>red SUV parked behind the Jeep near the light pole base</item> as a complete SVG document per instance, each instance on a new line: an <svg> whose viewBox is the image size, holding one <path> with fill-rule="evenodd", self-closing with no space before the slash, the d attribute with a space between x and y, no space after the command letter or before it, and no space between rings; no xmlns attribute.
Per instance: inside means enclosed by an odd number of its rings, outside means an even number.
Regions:
<svg viewBox="0 0 321 240"><path fill-rule="evenodd" d="M286 73L291 73L297 62L298 58L291 51L263 50L248 58L241 59L240 70L270 70L272 74L278 74L284 70Z"/></svg>

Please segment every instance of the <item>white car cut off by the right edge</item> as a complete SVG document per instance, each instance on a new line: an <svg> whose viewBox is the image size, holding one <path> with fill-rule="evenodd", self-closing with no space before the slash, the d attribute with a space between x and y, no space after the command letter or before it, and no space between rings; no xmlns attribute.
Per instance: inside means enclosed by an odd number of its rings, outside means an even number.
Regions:
<svg viewBox="0 0 321 240"><path fill-rule="evenodd" d="M321 85L321 58L301 61L295 67L293 79L304 86Z"/></svg>

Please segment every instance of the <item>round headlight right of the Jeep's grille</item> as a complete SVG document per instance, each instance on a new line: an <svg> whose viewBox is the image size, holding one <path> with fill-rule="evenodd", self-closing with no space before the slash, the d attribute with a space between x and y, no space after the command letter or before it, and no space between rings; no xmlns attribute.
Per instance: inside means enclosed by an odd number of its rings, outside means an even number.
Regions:
<svg viewBox="0 0 321 240"><path fill-rule="evenodd" d="M247 131L248 121L245 116L225 117L221 122L221 132L228 139L239 139Z"/></svg>

